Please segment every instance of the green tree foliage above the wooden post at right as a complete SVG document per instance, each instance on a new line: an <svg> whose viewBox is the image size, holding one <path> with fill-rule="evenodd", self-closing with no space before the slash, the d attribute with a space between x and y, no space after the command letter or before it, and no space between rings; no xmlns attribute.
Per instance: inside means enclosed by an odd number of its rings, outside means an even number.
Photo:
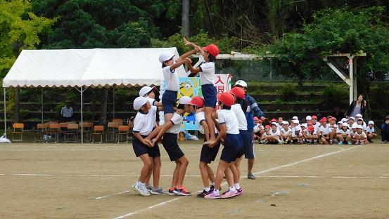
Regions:
<svg viewBox="0 0 389 219"><path fill-rule="evenodd" d="M389 29L381 22L383 12L381 7L319 11L313 15L314 22L300 32L283 34L261 53L274 55L269 59L274 69L302 82L329 71L321 55L364 51L368 56L359 58L357 77L361 88L366 88L369 72L382 77L389 70Z"/></svg>

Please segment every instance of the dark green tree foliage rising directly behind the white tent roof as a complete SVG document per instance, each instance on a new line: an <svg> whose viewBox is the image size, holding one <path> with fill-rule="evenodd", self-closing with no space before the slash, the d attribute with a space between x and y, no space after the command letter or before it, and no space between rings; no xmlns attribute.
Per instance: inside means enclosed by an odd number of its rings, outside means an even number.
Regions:
<svg viewBox="0 0 389 219"><path fill-rule="evenodd" d="M32 11L59 17L42 48L142 48L158 37L162 1L37 0Z"/></svg>

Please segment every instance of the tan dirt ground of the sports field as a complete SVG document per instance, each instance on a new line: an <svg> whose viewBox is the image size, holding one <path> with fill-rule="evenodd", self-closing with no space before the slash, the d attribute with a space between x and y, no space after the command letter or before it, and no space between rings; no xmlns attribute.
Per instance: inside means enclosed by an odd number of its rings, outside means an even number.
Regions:
<svg viewBox="0 0 389 219"><path fill-rule="evenodd" d="M131 143L1 144L0 218L389 218L388 144L255 144L257 179L243 159L244 193L217 200L196 197L200 141L179 144L191 197L136 194L142 162ZM167 190L174 162L160 148Z"/></svg>

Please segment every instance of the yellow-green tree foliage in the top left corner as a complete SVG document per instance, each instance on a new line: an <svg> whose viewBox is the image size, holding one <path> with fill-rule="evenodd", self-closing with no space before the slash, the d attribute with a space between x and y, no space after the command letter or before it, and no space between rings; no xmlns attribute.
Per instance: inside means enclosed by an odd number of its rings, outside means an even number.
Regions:
<svg viewBox="0 0 389 219"><path fill-rule="evenodd" d="M0 0L0 76L5 77L15 58L25 48L33 49L41 43L39 36L51 32L56 22L52 19L27 13L30 1Z"/></svg>

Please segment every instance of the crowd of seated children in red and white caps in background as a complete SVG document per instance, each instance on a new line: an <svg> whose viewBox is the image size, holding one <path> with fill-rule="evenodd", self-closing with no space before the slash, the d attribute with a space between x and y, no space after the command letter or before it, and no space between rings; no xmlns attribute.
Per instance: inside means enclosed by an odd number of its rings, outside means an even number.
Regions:
<svg viewBox="0 0 389 219"><path fill-rule="evenodd" d="M343 118L336 121L335 117L323 117L317 121L317 116L305 117L306 122L300 124L298 117L293 117L291 123L272 119L269 125L262 126L262 120L254 118L255 139L263 144L330 144L364 145L372 142L377 133L374 121L366 122L362 114L356 117Z"/></svg>

